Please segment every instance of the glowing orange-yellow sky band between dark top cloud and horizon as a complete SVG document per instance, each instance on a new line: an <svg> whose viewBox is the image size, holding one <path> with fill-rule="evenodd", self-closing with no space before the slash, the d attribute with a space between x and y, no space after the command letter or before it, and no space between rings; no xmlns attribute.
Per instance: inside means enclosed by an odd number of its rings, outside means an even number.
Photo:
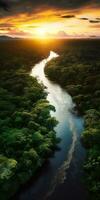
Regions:
<svg viewBox="0 0 100 200"><path fill-rule="evenodd" d="M0 18L0 35L12 37L100 37L100 8L43 8Z"/></svg>

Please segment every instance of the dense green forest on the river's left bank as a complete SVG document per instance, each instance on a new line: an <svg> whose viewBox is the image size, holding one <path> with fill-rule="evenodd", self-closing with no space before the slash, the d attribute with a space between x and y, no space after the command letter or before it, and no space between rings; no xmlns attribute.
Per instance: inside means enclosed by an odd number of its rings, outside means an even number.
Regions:
<svg viewBox="0 0 100 200"><path fill-rule="evenodd" d="M58 139L55 110L44 86L30 76L48 55L32 41L0 42L0 199L8 199L52 155Z"/></svg>

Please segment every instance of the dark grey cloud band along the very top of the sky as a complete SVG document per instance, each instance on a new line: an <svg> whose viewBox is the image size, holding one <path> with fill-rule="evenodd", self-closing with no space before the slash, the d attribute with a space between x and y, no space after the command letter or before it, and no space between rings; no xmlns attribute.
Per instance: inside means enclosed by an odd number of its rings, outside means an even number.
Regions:
<svg viewBox="0 0 100 200"><path fill-rule="evenodd" d="M11 12L30 12L42 6L73 10L93 3L100 6L100 0L0 0L0 7L6 11L11 8Z"/></svg>

